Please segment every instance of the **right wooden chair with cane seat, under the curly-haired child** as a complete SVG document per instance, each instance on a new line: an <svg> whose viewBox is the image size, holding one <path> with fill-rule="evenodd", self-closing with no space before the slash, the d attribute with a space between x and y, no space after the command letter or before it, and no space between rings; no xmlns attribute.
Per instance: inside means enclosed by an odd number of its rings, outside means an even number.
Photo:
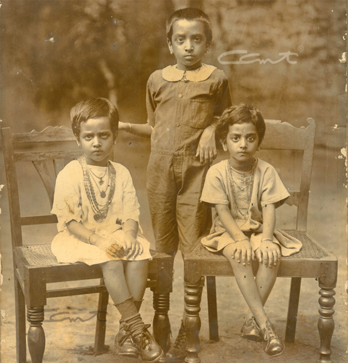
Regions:
<svg viewBox="0 0 348 363"><path fill-rule="evenodd" d="M289 205L297 206L296 229L285 231L298 238L303 247L299 253L283 257L278 272L278 277L292 278L285 342L294 342L295 339L301 278L318 279L320 288L318 321L320 357L318 362L329 363L331 362L331 338L335 326L333 307L337 282L337 258L306 233L315 137L315 121L308 119L307 122L309 125L306 128L296 128L286 122L266 120L266 134L260 147L268 150L303 152L299 190L289 191L291 197L286 201ZM283 168L289 168L289 165L283 165ZM257 271L257 266L258 262L253 261L254 273ZM226 257L219 253L209 252L200 242L191 253L185 255L184 269L186 324L189 340L188 356L185 361L199 363L201 278L207 277L210 339L218 340L215 276L234 276L234 274Z"/></svg>

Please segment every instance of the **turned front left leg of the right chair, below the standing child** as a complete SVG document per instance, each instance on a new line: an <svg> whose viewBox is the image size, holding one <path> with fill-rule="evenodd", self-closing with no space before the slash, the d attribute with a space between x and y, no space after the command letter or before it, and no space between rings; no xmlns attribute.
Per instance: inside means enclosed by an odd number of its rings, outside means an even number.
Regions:
<svg viewBox="0 0 348 363"><path fill-rule="evenodd" d="M199 331L200 331L200 301L202 296L202 282L199 279L196 283L185 282L185 327L187 330L187 356L186 363L200 363L199 352Z"/></svg>

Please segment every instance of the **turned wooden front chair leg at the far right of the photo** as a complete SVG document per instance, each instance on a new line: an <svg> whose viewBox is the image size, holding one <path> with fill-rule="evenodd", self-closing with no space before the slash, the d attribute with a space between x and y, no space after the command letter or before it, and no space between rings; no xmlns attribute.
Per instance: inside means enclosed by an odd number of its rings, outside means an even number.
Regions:
<svg viewBox="0 0 348 363"><path fill-rule="evenodd" d="M318 363L331 363L331 338L335 329L335 321L333 315L335 313L335 290L326 288L319 282L319 320L318 331L320 336L320 349Z"/></svg>

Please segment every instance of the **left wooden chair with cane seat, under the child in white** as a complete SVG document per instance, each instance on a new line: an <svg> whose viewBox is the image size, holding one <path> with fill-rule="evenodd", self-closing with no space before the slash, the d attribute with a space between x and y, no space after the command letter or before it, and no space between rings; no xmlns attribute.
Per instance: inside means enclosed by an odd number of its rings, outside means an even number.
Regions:
<svg viewBox="0 0 348 363"><path fill-rule="evenodd" d="M1 134L12 235L17 362L27 361L25 306L29 321L30 356L33 363L42 362L45 351L45 333L42 326L44 307L47 299L51 297L99 294L94 352L102 352L106 349L104 342L109 294L100 268L85 263L57 263L51 252L50 240L44 241L45 244L37 244L35 239L34 244L22 244L22 226L57 223L57 219L54 215L25 217L21 215L16 163L32 162L43 181L52 207L56 175L68 161L81 155L81 150L77 149L75 137L72 131L64 126L50 126L42 132L29 133L11 133L10 128L2 128ZM30 193L32 184L30 181L25 183L25 193ZM155 309L153 331L155 339L165 350L170 332L168 310L169 293L172 291L171 257L155 251L151 251L151 255L153 260L149 264L148 287L153 292ZM48 290L47 286L52 282L89 279L100 279L100 283L87 286L84 283L84 286L77 288L54 290Z"/></svg>

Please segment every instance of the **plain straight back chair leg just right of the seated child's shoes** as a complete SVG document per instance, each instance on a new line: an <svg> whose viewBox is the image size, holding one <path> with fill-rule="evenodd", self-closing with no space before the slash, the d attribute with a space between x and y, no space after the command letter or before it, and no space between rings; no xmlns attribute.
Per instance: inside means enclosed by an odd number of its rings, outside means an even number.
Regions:
<svg viewBox="0 0 348 363"><path fill-rule="evenodd" d="M286 321L285 341L293 343L295 340L298 302L300 299L301 277L291 279L288 320Z"/></svg>

